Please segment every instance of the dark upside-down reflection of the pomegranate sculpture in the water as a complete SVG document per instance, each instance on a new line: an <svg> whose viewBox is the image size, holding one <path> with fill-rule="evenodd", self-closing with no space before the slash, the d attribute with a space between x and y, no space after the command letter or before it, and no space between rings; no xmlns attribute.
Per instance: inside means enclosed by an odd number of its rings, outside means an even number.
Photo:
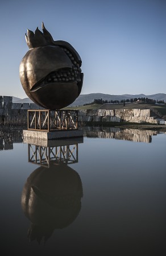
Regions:
<svg viewBox="0 0 166 256"><path fill-rule="evenodd" d="M30 241L47 241L54 229L71 224L80 212L82 195L80 176L64 163L32 172L22 192L22 209L32 222Z"/></svg>

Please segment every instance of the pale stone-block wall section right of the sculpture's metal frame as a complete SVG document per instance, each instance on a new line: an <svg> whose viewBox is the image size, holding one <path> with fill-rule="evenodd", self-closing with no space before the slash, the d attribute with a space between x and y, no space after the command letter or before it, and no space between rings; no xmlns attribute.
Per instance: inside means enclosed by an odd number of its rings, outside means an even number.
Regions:
<svg viewBox="0 0 166 256"><path fill-rule="evenodd" d="M150 109L80 110L78 122L159 123Z"/></svg>

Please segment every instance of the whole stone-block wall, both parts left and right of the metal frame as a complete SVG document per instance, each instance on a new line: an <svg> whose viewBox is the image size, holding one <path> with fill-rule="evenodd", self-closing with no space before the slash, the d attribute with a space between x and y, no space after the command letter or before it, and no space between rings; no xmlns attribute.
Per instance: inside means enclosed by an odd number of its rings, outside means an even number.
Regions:
<svg viewBox="0 0 166 256"><path fill-rule="evenodd" d="M43 109L35 103L13 103L12 97L0 96L0 124L27 124L27 109ZM150 109L94 109L78 111L78 124L86 122L159 123Z"/></svg>

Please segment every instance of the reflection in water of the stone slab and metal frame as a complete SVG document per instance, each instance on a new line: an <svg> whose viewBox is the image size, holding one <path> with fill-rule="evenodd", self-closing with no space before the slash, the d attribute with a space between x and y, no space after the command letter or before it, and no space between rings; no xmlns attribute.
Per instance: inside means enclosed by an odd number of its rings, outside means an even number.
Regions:
<svg viewBox="0 0 166 256"><path fill-rule="evenodd" d="M28 162L49 167L50 164L72 164L78 162L78 143L82 138L53 141L23 139L28 144Z"/></svg>

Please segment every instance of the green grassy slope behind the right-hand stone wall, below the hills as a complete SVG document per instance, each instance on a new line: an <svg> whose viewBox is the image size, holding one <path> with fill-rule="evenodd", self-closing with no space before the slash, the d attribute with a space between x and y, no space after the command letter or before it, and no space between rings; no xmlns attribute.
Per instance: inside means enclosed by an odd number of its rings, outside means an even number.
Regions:
<svg viewBox="0 0 166 256"><path fill-rule="evenodd" d="M80 109L151 109L155 110L156 113L159 112L161 117L165 115L166 118L166 105L153 105L153 104L136 104L136 103L129 103L123 106L123 104L93 104L93 105L86 105L86 106L73 106L64 108L73 109L73 110L80 110Z"/></svg>

